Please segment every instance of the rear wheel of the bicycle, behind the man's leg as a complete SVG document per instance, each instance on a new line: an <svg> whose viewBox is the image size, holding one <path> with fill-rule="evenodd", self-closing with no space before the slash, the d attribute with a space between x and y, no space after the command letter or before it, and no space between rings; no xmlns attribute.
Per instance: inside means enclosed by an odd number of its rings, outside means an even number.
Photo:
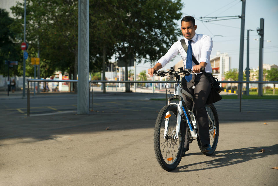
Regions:
<svg viewBox="0 0 278 186"><path fill-rule="evenodd" d="M219 120L218 120L218 114L216 111L216 108L213 104L206 105L206 110L208 111L209 116L211 117L211 120L214 122L214 129L209 132L209 137L210 137L210 145L211 145L211 151L208 152L202 152L206 156L210 156L214 153L217 143L218 143L218 138L219 138ZM213 124L211 121L209 121L209 130L213 129ZM200 138L197 137L197 142L200 150L202 151L202 146L200 142Z"/></svg>

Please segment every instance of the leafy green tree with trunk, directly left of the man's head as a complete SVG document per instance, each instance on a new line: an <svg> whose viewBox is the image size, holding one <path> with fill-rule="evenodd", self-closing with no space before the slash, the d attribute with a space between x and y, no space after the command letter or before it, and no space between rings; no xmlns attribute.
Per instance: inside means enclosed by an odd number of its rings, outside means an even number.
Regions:
<svg viewBox="0 0 278 186"><path fill-rule="evenodd" d="M125 30L120 33L121 42L117 43L117 52L121 60L128 64L135 60L155 62L164 55L177 40L180 30L175 20L180 20L183 4L180 0L124 0L118 1L123 11L122 24ZM127 79L127 71L125 77ZM129 84L126 84L129 91Z"/></svg>

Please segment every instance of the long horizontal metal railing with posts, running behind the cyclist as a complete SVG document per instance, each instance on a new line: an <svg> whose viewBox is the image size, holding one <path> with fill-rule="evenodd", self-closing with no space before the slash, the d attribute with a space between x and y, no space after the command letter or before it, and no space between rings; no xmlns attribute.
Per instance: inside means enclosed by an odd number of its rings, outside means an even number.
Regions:
<svg viewBox="0 0 278 186"><path fill-rule="evenodd" d="M27 116L30 117L30 82L65 82L65 83L78 83L78 80L39 80L39 79L27 79ZM90 89L91 83L175 83L175 81L107 81L107 80L94 80L88 81L89 83L89 100L90 100ZM278 84L278 81L219 81L219 83L252 83L252 84ZM93 87L93 86L92 86ZM39 88L39 87L38 87ZM35 91L35 90L34 90ZM93 104L94 91L92 89L92 104ZM242 95L241 91L239 95ZM241 97L239 96L239 111L241 112ZM166 91L166 104L167 104L167 91ZM89 103L90 109L90 103Z"/></svg>

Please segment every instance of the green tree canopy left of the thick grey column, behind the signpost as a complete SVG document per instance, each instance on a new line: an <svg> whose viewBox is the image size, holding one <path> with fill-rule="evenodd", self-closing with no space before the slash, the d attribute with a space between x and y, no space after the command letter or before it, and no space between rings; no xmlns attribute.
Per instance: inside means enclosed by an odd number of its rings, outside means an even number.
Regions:
<svg viewBox="0 0 278 186"><path fill-rule="evenodd" d="M18 30L23 30L23 6L18 2L11 8ZM76 79L78 1L27 0L26 25L26 41L34 51L30 57L36 57L39 41L41 75L48 77L61 70L68 71L70 78L73 73ZM20 32L22 40L23 31Z"/></svg>

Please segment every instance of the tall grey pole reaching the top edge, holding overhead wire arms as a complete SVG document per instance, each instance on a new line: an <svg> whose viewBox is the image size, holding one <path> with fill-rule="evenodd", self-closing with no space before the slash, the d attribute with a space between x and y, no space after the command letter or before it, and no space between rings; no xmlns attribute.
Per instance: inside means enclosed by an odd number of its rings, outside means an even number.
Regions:
<svg viewBox="0 0 278 186"><path fill-rule="evenodd" d="M238 81L243 80L243 49L244 49L244 25L245 25L245 1L242 1L242 11L241 11L241 30L240 30L240 46L239 46L239 68L238 68ZM237 98L242 97L242 83L238 84Z"/></svg>

